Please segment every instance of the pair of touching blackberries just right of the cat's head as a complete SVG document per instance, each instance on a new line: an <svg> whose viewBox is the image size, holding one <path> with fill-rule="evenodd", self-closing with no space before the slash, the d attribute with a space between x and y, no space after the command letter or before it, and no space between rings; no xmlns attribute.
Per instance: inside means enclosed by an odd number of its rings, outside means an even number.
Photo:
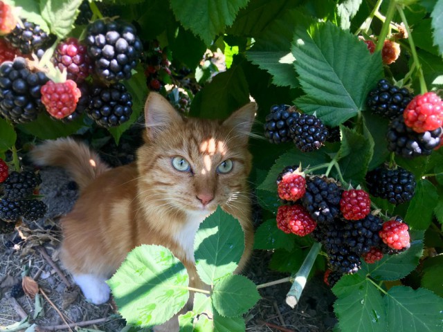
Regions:
<svg viewBox="0 0 443 332"><path fill-rule="evenodd" d="M273 105L265 118L264 137L271 143L292 140L302 152L320 149L329 137L325 124L314 115L298 113L289 105Z"/></svg>

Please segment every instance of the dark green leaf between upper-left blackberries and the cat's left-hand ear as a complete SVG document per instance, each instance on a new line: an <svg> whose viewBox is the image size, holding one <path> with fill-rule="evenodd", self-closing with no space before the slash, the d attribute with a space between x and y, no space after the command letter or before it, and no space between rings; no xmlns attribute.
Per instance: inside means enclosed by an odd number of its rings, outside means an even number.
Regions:
<svg viewBox="0 0 443 332"><path fill-rule="evenodd" d="M114 137L117 145L123 133L136 122L141 111L145 108L147 85L145 73L141 66L137 67L137 73L132 75L129 80L125 81L125 86L132 96L132 114L127 122L123 122L123 124L120 124L118 127L109 128L109 133Z"/></svg>

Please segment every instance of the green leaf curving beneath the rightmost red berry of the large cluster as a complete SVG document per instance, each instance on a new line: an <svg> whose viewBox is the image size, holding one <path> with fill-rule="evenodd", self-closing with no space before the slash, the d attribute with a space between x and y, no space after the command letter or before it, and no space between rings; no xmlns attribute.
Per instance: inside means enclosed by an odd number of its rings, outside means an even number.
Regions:
<svg viewBox="0 0 443 332"><path fill-rule="evenodd" d="M397 255L384 255L374 264L361 262L362 273L377 280L397 280L406 277L417 266L423 252L424 232L410 231L410 248Z"/></svg>

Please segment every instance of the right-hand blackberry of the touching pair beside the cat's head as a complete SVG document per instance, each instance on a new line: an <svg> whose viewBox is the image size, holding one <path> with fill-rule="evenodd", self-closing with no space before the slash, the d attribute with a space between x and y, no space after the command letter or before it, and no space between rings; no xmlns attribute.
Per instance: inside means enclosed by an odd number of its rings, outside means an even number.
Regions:
<svg viewBox="0 0 443 332"><path fill-rule="evenodd" d="M300 114L289 126L289 133L296 147L302 152L320 149L328 136L325 124L310 114Z"/></svg>

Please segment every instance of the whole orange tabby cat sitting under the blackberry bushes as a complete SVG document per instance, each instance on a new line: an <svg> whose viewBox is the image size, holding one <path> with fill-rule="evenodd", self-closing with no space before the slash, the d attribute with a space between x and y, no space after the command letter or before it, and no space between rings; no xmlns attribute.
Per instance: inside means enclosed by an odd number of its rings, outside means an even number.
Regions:
<svg viewBox="0 0 443 332"><path fill-rule="evenodd" d="M134 163L111 168L72 138L47 140L30 152L36 165L64 167L78 183L79 199L61 220L60 257L89 302L108 301L105 281L141 244L169 248L186 266L190 286L204 288L193 242L218 205L242 225L245 248L236 272L244 268L253 248L247 178L255 111L250 102L223 122L186 118L151 92Z"/></svg>

